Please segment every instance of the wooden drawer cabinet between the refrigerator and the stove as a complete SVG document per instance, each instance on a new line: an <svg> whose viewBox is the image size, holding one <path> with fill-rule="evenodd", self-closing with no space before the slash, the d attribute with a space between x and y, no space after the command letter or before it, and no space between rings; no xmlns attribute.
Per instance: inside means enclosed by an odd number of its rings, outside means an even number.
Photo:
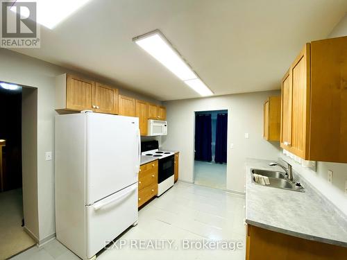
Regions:
<svg viewBox="0 0 347 260"><path fill-rule="evenodd" d="M139 201L141 207L158 194L158 160L139 168Z"/></svg>

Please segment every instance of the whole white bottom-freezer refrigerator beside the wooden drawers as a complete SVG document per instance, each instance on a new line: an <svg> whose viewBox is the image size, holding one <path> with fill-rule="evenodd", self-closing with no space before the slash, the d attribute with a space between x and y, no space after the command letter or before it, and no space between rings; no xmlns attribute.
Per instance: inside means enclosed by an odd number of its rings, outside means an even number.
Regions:
<svg viewBox="0 0 347 260"><path fill-rule="evenodd" d="M136 225L141 142L135 117L56 116L56 236L81 259Z"/></svg>

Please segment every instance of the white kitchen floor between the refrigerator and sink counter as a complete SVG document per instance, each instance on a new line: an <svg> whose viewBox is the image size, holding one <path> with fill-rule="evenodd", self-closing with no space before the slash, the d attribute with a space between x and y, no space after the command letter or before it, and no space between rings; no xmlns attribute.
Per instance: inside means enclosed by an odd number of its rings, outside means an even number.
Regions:
<svg viewBox="0 0 347 260"><path fill-rule="evenodd" d="M244 197L194 184L177 182L160 198L155 198L139 211L139 224L131 227L117 240L124 248L103 250L97 259L244 259ZM170 239L172 249L130 249L130 240ZM189 241L241 241L238 250L183 249L183 239ZM197 244L198 245L198 244ZM31 248L13 260L78 259L58 241L42 248Z"/></svg>

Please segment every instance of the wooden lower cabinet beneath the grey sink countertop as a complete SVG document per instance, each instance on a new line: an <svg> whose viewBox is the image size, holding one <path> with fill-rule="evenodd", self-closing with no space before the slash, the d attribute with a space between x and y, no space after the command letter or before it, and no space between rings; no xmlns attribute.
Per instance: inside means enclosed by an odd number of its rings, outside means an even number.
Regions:
<svg viewBox="0 0 347 260"><path fill-rule="evenodd" d="M346 259L347 248L247 225L246 260Z"/></svg>

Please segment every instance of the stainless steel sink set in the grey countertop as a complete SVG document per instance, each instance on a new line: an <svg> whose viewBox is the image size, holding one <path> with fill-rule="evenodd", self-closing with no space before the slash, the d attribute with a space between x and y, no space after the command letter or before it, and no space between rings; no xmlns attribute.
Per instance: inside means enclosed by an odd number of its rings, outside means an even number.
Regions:
<svg viewBox="0 0 347 260"><path fill-rule="evenodd" d="M254 180L253 174L260 174L266 177L269 177L269 185L262 185ZM285 177L284 173L281 173L279 171L266 171L266 170L260 170L260 169L251 169L251 176L252 176L252 182L266 187L273 187L277 189L287 189L289 191L299 191L299 192L305 192L303 187L296 187L296 185L291 182L290 180Z"/></svg>

